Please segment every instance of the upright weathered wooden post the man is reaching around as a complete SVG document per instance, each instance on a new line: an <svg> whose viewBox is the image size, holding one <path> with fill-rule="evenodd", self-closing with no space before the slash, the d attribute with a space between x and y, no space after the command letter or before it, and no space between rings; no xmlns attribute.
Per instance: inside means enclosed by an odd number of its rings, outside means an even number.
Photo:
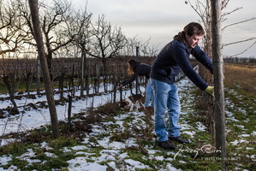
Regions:
<svg viewBox="0 0 256 171"><path fill-rule="evenodd" d="M221 1L211 0L211 33L212 33L212 62L214 74L214 119L215 142L217 150L221 150L221 156L226 157L226 135L224 114L223 91L223 56L221 37Z"/></svg>

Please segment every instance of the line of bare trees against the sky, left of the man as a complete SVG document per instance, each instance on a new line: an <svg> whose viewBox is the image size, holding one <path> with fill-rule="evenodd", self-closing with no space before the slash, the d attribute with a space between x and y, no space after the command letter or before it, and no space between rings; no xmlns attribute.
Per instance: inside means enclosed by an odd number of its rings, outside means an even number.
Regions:
<svg viewBox="0 0 256 171"><path fill-rule="evenodd" d="M74 9L72 1L46 2L39 2L39 21L50 74L53 58L94 57L105 69L110 58L135 55L136 46L140 47L142 56L156 55L156 48L149 47L148 41L142 43L136 36L127 38L121 27L105 21L105 15L98 15L93 23L86 3L84 9ZM0 55L4 58L35 57L36 42L27 0L0 0L0 3Z"/></svg>

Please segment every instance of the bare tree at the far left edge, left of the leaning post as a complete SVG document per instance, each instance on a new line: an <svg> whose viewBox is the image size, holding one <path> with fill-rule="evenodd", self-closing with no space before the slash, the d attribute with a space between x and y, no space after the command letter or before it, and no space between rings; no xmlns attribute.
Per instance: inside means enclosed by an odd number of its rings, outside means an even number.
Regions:
<svg viewBox="0 0 256 171"><path fill-rule="evenodd" d="M15 1L0 0L0 55L3 56L3 83L9 91L10 101L17 108L15 103L15 88L18 78L18 66L15 63L11 68L5 68L4 58L12 58L19 56L24 50L24 43L27 41L27 32L23 32L22 28L26 26L24 21L20 20L18 9ZM18 113L18 109L17 113Z"/></svg>

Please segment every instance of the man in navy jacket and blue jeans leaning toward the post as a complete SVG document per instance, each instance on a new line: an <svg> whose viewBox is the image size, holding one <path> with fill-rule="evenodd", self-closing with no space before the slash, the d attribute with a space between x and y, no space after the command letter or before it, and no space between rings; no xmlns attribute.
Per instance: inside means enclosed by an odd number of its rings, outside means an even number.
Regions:
<svg viewBox="0 0 256 171"><path fill-rule="evenodd" d="M213 86L209 86L205 80L202 80L188 61L189 56L193 55L212 74L212 62L198 45L204 34L205 31L199 23L189 23L169 44L164 46L152 65L150 77L156 102L154 108L155 133L158 136L159 146L164 149L173 150L175 148L170 140L182 144L189 143L188 139L182 138L181 127L178 124L181 104L175 84L176 74L182 69L193 84L213 96ZM169 127L164 120L166 109L169 115Z"/></svg>

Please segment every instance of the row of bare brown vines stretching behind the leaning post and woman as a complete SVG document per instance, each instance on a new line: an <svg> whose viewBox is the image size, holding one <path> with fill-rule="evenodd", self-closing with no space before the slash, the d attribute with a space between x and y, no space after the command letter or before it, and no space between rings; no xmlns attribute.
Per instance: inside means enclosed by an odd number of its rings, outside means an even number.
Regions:
<svg viewBox="0 0 256 171"><path fill-rule="evenodd" d="M81 78L80 72L80 58L55 59L52 62L51 72L51 80L55 87L54 91L60 94L60 98L67 98L63 97L63 92L68 91L70 96L74 97L75 91L82 90L80 97L84 97L92 96L92 93L99 93L100 86L103 85L104 92L113 92L111 99L113 99L113 102L116 102L116 91L121 91L118 85L129 77L127 62L130 58L132 57L112 58L106 62L105 69L100 60L95 58L86 59L83 67L83 78ZM154 57L140 56L137 60L152 65ZM8 90L9 99L13 103L14 108L17 108L15 103L17 92L26 91L27 95L29 95L30 91L35 91L37 89L35 86L39 85L37 94L44 93L43 78L41 70L38 68L37 60L5 59L1 61L1 68L2 76L0 83L2 87ZM146 85L146 79L141 77L139 85ZM90 92L90 89L93 91ZM122 93L120 96L120 99L122 99Z"/></svg>

